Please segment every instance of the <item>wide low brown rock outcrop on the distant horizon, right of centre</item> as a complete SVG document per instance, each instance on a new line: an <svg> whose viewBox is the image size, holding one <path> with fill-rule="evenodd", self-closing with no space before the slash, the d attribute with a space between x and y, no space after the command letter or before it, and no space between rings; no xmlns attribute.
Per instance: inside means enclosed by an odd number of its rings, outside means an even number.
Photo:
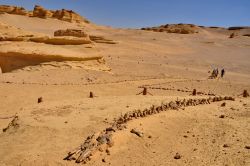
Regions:
<svg viewBox="0 0 250 166"><path fill-rule="evenodd" d="M161 25L159 27L141 28L141 30L179 34L193 34L199 32L199 27L193 24L166 24Z"/></svg>

